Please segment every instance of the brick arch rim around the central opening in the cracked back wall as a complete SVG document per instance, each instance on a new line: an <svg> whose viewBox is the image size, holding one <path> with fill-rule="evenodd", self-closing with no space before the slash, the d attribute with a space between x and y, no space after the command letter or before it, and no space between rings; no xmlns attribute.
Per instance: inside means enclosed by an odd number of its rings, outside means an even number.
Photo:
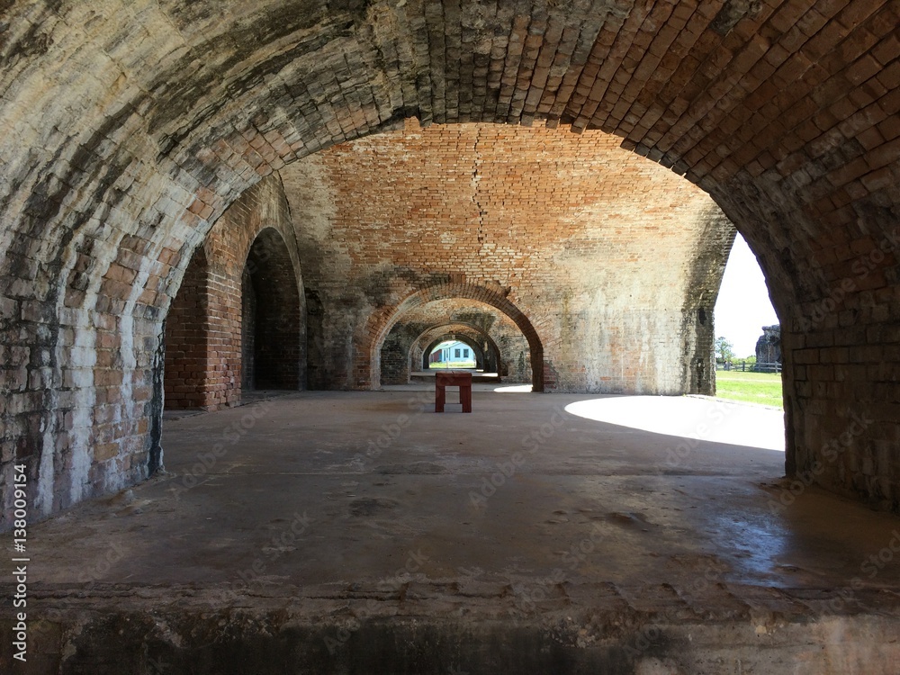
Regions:
<svg viewBox="0 0 900 675"><path fill-rule="evenodd" d="M528 342L531 352L532 391L544 391L544 345L537 334L537 330L528 320L527 316L509 299L496 291L475 284L466 284L454 280L448 280L440 284L433 284L407 296L403 301L391 308L383 308L375 311L369 317L362 336L361 347L356 356L356 374L362 378L368 377L368 385L377 387L381 378L381 348L384 338L401 319L402 315L419 305L436 300L448 300L462 298L475 302L483 302L491 305L509 317L522 331ZM357 382L365 383L365 379Z"/></svg>

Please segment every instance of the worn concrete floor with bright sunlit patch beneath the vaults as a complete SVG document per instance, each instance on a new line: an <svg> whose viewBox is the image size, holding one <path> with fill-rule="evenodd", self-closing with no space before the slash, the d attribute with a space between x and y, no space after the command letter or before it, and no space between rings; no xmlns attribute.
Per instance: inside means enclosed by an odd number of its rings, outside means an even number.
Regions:
<svg viewBox="0 0 900 675"><path fill-rule="evenodd" d="M31 527L37 606L61 624L277 609L319 635L304 634L320 656L297 672L365 672L354 659L381 643L364 626L430 620L470 638L536 631L538 660L557 653L547 644L574 650L548 672L896 672L900 519L791 494L779 411L476 384L472 414L438 415L433 390L387 389L167 414L165 475ZM103 635L80 621L78 639ZM207 672L186 629L147 630L145 652ZM489 671L451 634L447 653L369 672ZM521 652L509 635L491 640ZM67 662L54 649L47 672Z"/></svg>

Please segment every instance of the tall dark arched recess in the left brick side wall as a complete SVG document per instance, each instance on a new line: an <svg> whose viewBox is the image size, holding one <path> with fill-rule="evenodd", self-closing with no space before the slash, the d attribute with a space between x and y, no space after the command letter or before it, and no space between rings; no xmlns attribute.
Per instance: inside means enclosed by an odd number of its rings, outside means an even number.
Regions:
<svg viewBox="0 0 900 675"><path fill-rule="evenodd" d="M241 387L301 386L301 300L297 274L276 229L263 229L241 275Z"/></svg>

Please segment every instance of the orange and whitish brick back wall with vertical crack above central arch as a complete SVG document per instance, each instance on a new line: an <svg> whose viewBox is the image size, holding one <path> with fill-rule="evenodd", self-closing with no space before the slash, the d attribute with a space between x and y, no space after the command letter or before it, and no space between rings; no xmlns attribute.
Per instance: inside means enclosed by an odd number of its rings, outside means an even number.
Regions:
<svg viewBox="0 0 900 675"><path fill-rule="evenodd" d="M368 386L347 355L377 358L372 314L396 320L390 308L456 277L500 289L539 326L559 391L712 391L712 311L734 229L705 193L618 142L410 122L285 168L330 346L317 386Z"/></svg>

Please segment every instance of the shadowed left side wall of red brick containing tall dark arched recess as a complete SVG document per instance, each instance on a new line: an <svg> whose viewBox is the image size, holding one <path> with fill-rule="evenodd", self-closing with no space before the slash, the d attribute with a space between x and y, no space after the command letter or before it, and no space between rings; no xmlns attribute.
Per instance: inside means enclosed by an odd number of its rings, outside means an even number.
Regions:
<svg viewBox="0 0 900 675"><path fill-rule="evenodd" d="M187 268L166 321L166 408L219 410L242 389L300 389L305 314L280 180L243 193Z"/></svg>

